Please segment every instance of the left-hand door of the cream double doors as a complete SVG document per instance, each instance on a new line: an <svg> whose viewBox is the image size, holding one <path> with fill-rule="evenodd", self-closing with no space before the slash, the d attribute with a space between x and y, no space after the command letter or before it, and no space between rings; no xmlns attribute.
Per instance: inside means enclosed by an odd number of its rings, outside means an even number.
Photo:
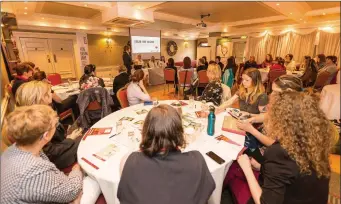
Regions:
<svg viewBox="0 0 341 204"><path fill-rule="evenodd" d="M23 61L33 62L46 74L54 73L48 40L42 38L20 38L23 49Z"/></svg>

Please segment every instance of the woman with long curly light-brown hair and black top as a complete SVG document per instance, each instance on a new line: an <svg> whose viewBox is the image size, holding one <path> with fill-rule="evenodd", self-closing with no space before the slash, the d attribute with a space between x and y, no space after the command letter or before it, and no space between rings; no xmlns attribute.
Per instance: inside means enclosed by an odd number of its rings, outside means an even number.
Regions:
<svg viewBox="0 0 341 204"><path fill-rule="evenodd" d="M238 158L252 196L249 203L327 203L333 128L318 98L273 93L264 123L276 140L265 150L264 163L245 154ZM259 181L252 168L260 169Z"/></svg>

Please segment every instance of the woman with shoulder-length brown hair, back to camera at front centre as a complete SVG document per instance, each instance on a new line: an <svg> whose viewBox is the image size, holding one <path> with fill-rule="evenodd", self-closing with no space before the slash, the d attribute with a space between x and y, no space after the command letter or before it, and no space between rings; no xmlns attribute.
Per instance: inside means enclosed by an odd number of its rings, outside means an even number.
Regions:
<svg viewBox="0 0 341 204"><path fill-rule="evenodd" d="M140 151L121 160L120 203L206 204L215 182L200 152L181 152L185 143L177 110L164 104L152 108Z"/></svg>

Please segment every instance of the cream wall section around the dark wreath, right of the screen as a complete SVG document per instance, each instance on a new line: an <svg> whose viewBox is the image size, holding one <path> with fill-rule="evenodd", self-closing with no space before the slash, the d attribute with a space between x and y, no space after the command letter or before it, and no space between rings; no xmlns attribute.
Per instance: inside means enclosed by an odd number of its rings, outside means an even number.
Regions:
<svg viewBox="0 0 341 204"><path fill-rule="evenodd" d="M182 61L184 57L190 57L192 60L197 58L197 41L196 40L187 40L187 46L185 44L185 40L178 39L161 39L161 55L165 56L166 61L171 56L167 53L167 43L169 41L174 41L178 46L177 53L172 56L175 62Z"/></svg>

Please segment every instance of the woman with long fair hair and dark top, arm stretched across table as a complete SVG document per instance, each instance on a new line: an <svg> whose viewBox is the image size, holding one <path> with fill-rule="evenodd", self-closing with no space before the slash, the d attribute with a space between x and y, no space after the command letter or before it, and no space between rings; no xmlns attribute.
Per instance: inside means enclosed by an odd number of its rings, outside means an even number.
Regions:
<svg viewBox="0 0 341 204"><path fill-rule="evenodd" d="M239 108L244 114L255 115L266 111L268 96L262 84L261 74L256 68L249 68L242 74L242 83L234 96L217 108L217 113L224 111L239 99Z"/></svg>

